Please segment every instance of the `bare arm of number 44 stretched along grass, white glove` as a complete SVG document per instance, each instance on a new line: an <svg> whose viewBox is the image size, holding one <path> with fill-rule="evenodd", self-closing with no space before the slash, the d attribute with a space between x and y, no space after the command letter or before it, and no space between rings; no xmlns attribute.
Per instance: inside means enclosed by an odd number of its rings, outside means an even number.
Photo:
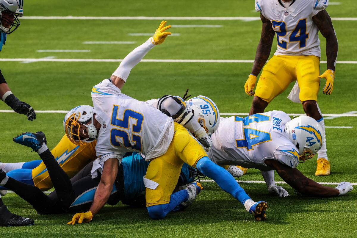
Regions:
<svg viewBox="0 0 357 238"><path fill-rule="evenodd" d="M353 187L350 183L340 183L336 188L323 186L310 178L305 177L297 168L288 167L274 159L265 161L267 166L274 168L279 176L299 193L311 197L332 197L345 195Z"/></svg>

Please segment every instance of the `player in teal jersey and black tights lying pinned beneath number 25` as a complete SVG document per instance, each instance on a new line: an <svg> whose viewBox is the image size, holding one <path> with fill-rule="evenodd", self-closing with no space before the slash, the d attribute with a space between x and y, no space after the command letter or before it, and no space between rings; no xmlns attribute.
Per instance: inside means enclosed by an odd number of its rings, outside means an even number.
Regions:
<svg viewBox="0 0 357 238"><path fill-rule="evenodd" d="M48 168L48 172L54 183L55 191L46 196L39 188L22 183L6 176L0 169L0 184L12 189L21 198L34 207L39 214L57 214L63 212L87 211L94 199L94 194L100 183L101 174L96 178L91 178L93 161L87 164L72 179L61 169L54 156L46 146L46 137L42 132L26 132L14 138L14 141L26 145L39 153L41 159ZM145 186L143 176L146 173L149 162L146 162L138 153L126 156L118 167L115 183L107 201L110 205L115 205L119 201L124 204L145 207ZM185 164L182 167L178 186L193 182L196 171ZM176 181L177 182L177 181ZM182 209L191 204L196 198L196 187L199 183L191 183L180 193L187 193L188 199L180 204L177 209ZM198 192L200 189L198 189ZM175 197L171 198L175 199ZM69 222L81 223L80 217L73 218Z"/></svg>

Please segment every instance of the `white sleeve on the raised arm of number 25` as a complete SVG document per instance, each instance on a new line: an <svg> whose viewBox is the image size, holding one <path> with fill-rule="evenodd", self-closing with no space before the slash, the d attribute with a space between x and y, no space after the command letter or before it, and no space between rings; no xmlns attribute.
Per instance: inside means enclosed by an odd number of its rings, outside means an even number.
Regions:
<svg viewBox="0 0 357 238"><path fill-rule="evenodd" d="M127 55L123 61L121 61L119 67L114 71L112 75L120 77L122 80L126 81L130 71L137 65L142 58L151 50L155 45L151 43L151 37L149 40L145 41L144 44L136 47L133 51Z"/></svg>

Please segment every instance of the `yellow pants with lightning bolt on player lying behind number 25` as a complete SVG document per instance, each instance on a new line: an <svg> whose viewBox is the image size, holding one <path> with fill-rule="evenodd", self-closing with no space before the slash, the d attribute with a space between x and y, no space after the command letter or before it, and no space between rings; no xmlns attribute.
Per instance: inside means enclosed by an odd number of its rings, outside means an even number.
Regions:
<svg viewBox="0 0 357 238"><path fill-rule="evenodd" d="M84 166L97 158L95 155L95 145L96 142L86 143L84 146L77 146L64 135L51 152L61 168L72 178ZM42 191L47 191L53 187L44 162L41 162L39 166L32 169L32 179L35 186Z"/></svg>

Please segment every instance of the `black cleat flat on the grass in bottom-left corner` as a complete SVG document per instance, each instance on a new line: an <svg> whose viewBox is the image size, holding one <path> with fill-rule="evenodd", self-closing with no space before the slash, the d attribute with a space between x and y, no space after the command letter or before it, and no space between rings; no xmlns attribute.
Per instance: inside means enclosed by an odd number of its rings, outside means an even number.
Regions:
<svg viewBox="0 0 357 238"><path fill-rule="evenodd" d="M34 220L11 213L4 204L0 206L0 226L20 227L33 224L35 224Z"/></svg>

